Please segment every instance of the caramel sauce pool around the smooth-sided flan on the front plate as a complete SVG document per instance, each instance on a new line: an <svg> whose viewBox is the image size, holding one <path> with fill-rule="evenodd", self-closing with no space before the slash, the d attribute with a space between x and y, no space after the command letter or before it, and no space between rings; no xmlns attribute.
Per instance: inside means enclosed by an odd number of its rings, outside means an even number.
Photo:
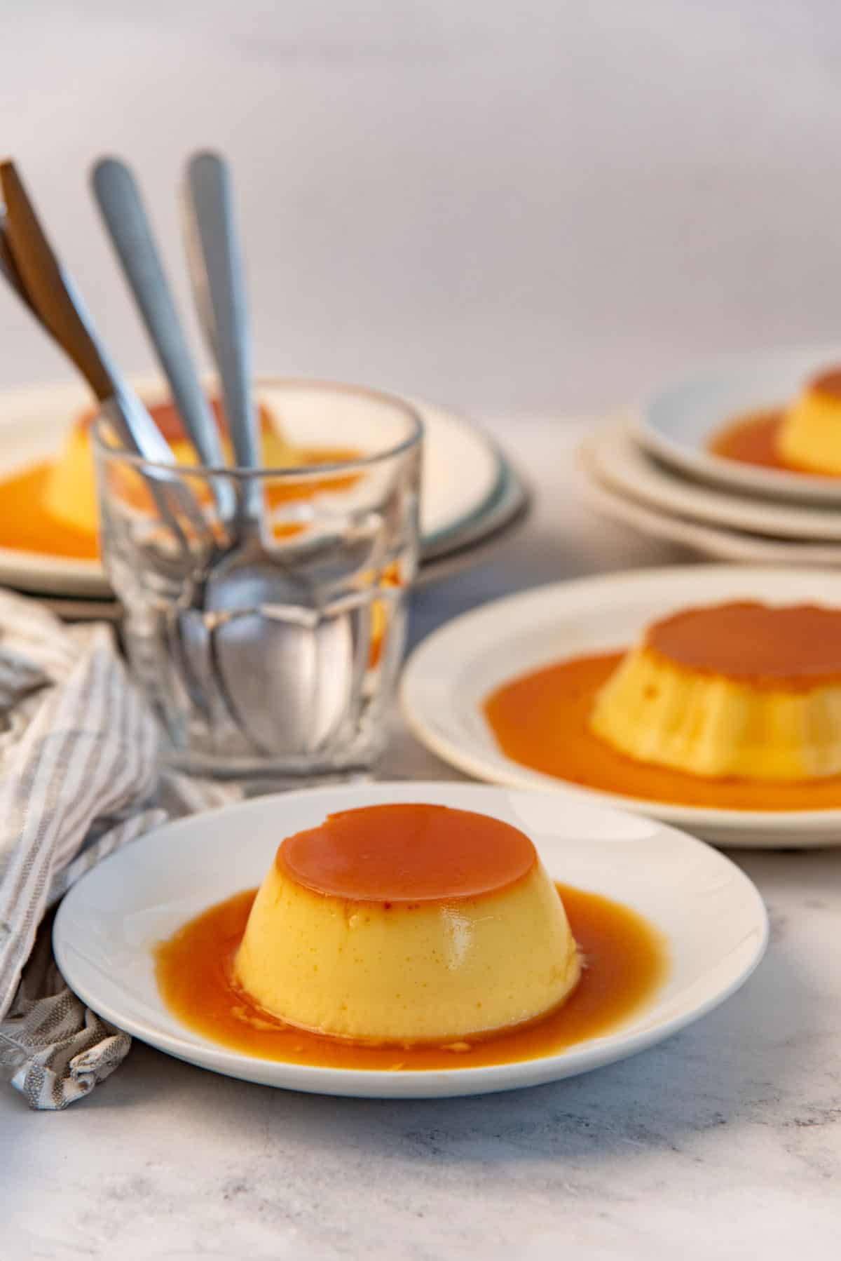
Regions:
<svg viewBox="0 0 841 1261"><path fill-rule="evenodd" d="M305 1033L252 1004L232 981L232 963L256 890L211 907L161 942L155 952L160 992L188 1028L233 1050L319 1068L441 1069L508 1064L551 1055L608 1033L663 981L663 937L628 907L559 884L572 936L583 952L581 980L548 1016L499 1033L467 1049L369 1047Z"/></svg>

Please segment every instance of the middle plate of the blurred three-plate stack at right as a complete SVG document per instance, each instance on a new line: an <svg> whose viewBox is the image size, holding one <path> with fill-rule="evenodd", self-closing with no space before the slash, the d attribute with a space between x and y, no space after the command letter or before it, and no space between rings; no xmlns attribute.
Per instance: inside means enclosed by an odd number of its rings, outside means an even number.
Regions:
<svg viewBox="0 0 841 1261"><path fill-rule="evenodd" d="M598 477L609 488L654 508L770 538L841 545L841 504L770 503L682 477L642 450L633 416L599 425L585 449Z"/></svg>

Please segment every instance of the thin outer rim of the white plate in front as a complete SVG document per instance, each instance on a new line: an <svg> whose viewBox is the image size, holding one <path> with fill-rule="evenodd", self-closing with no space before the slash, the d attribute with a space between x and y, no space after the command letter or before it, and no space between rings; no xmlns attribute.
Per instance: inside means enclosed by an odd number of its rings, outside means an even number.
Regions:
<svg viewBox="0 0 841 1261"><path fill-rule="evenodd" d="M69 918L73 902L79 897L78 890L86 885L92 878L105 868L106 864L115 866L121 861L125 861L126 855L131 851L136 852L137 846L144 846L144 844L155 840L158 844L161 842L161 834L164 837L173 839L175 834L175 842L179 831L193 831L197 826L209 817L219 817L227 813L240 813L248 810L265 808L266 802L277 802L282 805L289 801L299 801L301 798L316 798L325 792L348 792L352 797L362 796L366 792L376 789L377 792L392 792L400 789L405 792L411 789L417 791L424 794L426 792L445 792L449 793L454 789L464 791L468 789L469 794L490 794L496 796L499 793L508 793L511 791L518 793L519 796L536 796L531 789L508 789L497 784L488 783L453 783L449 781L376 781L369 784L344 784L344 786L325 786L325 787L313 787L295 789L293 792L274 793L258 798L251 798L238 802L228 802L223 806L218 806L209 811L202 811L198 815L189 815L182 818L169 820L161 823L159 827L153 828L150 832L144 834L137 837L130 845L122 846L113 854L107 855L98 863L95 868L87 871L81 879L64 894L52 928L52 942L53 953L55 962L58 965L62 976L67 980L67 984L73 990L73 992L87 1005L91 1010L96 1011L97 1015L108 1020L111 1024L116 1025L119 1029L136 1037L148 1045L151 1045L165 1054L174 1055L177 1059L183 1059L184 1062L192 1064L193 1067L202 1068L211 1072L221 1073L222 1076L235 1077L245 1081L257 1082L258 1084L267 1084L272 1088L280 1090L294 1090L301 1093L318 1093L328 1096L352 1096L352 1097L364 1097L364 1098L405 1098L405 1100L417 1100L417 1098L432 1098L432 1097L461 1097L469 1095L483 1095L483 1093L496 1093L501 1091L519 1090L528 1086L537 1086L541 1083L547 1083L552 1081L561 1081L567 1077L574 1077L590 1072L595 1068L605 1067L606 1064L618 1063L622 1059L637 1054L641 1050L647 1049L659 1042L664 1042L667 1038L673 1037L681 1029L696 1020L702 1019L715 1008L720 1006L729 997L731 997L741 986L749 980L753 972L757 970L762 962L769 942L769 915L765 902L757 888L755 883L750 876L728 855L721 854L712 846L706 845L702 840L691 836L680 828L672 827L668 823L661 822L659 820L652 820L653 826L657 828L658 834L662 834L672 840L678 839L680 844L686 846L688 850L702 849L709 851L710 855L715 856L716 863L725 866L731 876L735 876L738 884L744 890L744 894L750 899L753 904L753 912L757 917L754 928L751 931L759 929L759 937L754 947L751 957L741 966L741 968L735 972L725 985L717 989L714 994L707 995L702 1001L697 1002L686 1010L682 1010L667 1020L663 1020L653 1026L646 1026L637 1030L634 1034L622 1033L622 1025L619 1031L613 1031L606 1035L586 1039L581 1044L574 1044L572 1048L561 1050L552 1055L535 1057L533 1059L525 1061L512 1061L503 1064L485 1064L478 1066L475 1068L455 1068L455 1069L414 1069L414 1071L393 1071L393 1069L344 1069L344 1068L329 1068L322 1066L299 1066L285 1061L271 1061L264 1057L247 1055L240 1052L235 1052L229 1048L224 1048L222 1044L213 1043L212 1040L204 1038L202 1034L194 1034L199 1039L199 1045L195 1047L189 1042L178 1038L174 1034L169 1034L165 1030L156 1031L154 1026L149 1025L140 1018L129 1016L126 1020L125 1014L117 1011L110 1002L102 1004L97 1000L96 994L91 989L82 984L78 985L73 981L73 965L68 960L66 950L72 951L72 942L64 936L64 919ZM623 811L618 811L613 807L601 807L599 811L608 816L622 816ZM236 830L232 830L231 844L236 844ZM540 846L540 842L535 842ZM629 844L633 844L629 842ZM540 849L538 849L540 852ZM236 892L236 890L235 890ZM71 908L71 909L68 909ZM657 926L654 926L657 927ZM644 1010L644 1009L641 1009ZM150 1037L150 1030L153 1037ZM589 1048L589 1049L588 1049ZM594 1054L594 1049L595 1054ZM208 1062L200 1062L194 1058L194 1053L199 1050L204 1059ZM599 1054L599 1050L603 1054ZM183 1052L183 1054L182 1054ZM217 1061L217 1063L213 1063ZM583 1061L588 1061L583 1063ZM291 1084L289 1082L258 1082L253 1076L248 1076L247 1072L238 1073L235 1069L237 1067L247 1069L248 1066L282 1066L291 1071L294 1078L300 1077L300 1082ZM559 1072L559 1068L566 1066L570 1071ZM459 1084L460 1083L460 1084ZM359 1086L369 1086L372 1088L359 1090ZM342 1088L342 1087L347 1088ZM387 1087L395 1086L396 1091L391 1091ZM339 1087L339 1088L337 1088ZM356 1088L354 1088L356 1087ZM427 1088L425 1088L427 1087ZM467 1088L464 1088L467 1087Z"/></svg>

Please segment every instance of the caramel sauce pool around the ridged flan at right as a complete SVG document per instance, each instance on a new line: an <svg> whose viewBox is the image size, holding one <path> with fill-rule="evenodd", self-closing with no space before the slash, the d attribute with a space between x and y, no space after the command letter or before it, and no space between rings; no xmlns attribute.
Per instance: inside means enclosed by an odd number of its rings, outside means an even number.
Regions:
<svg viewBox="0 0 841 1261"><path fill-rule="evenodd" d="M826 779L704 779L627 758L590 731L595 694L624 653L575 657L492 692L484 714L503 753L546 776L647 801L721 810L833 810L841 776Z"/></svg>

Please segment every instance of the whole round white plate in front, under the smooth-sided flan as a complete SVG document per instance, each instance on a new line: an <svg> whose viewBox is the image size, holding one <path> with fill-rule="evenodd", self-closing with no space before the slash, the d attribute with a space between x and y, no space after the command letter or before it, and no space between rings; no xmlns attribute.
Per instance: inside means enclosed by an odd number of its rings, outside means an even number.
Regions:
<svg viewBox="0 0 841 1261"><path fill-rule="evenodd" d="M308 1068L257 1059L184 1028L164 1006L153 947L187 919L257 885L279 839L330 811L420 801L477 810L535 841L557 880L614 898L667 938L662 987L620 1028L555 1055L484 1068L429 1072ZM227 806L135 841L83 876L53 928L71 989L144 1042L203 1068L320 1095L432 1098L535 1086L598 1068L661 1042L710 1011L754 970L767 915L750 880L722 855L649 820L583 803L557 810L545 793L479 784L398 783L319 788Z"/></svg>

